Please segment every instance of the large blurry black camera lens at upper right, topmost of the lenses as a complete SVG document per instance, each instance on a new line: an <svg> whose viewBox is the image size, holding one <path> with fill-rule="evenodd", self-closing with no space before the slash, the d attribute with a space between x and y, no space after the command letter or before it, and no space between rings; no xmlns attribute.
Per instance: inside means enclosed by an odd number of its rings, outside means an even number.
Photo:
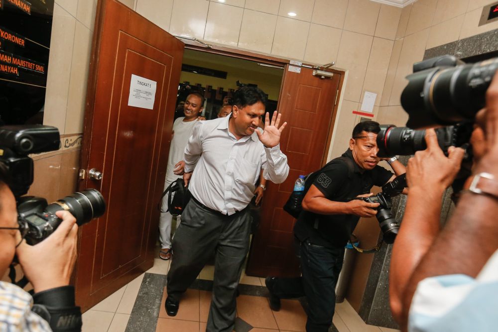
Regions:
<svg viewBox="0 0 498 332"><path fill-rule="evenodd" d="M486 104L486 91L498 69L498 58L456 67L435 67L408 75L401 105L406 125L425 128L472 121Z"/></svg>

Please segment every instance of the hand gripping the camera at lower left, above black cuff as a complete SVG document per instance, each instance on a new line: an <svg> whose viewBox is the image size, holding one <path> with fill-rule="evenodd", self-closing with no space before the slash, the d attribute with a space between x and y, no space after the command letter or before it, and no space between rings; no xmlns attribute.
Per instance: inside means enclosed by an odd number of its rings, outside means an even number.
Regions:
<svg viewBox="0 0 498 332"><path fill-rule="evenodd" d="M33 246L22 241L16 250L19 264L36 293L69 285L76 262L76 219L67 211L57 211L55 215L62 222L50 236Z"/></svg>

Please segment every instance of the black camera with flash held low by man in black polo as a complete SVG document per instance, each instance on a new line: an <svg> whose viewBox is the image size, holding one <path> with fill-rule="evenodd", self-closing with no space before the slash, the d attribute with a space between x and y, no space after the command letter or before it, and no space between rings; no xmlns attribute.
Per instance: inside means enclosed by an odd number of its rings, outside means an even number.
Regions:
<svg viewBox="0 0 498 332"><path fill-rule="evenodd" d="M367 203L380 204L377 208L375 218L377 218L380 230L382 230L382 238L387 244L394 243L394 239L396 238L399 229L399 222L396 221L391 213L391 197L401 194L405 187L406 174L401 174L391 182L383 185L382 191L377 195L357 198L358 200L363 200Z"/></svg>

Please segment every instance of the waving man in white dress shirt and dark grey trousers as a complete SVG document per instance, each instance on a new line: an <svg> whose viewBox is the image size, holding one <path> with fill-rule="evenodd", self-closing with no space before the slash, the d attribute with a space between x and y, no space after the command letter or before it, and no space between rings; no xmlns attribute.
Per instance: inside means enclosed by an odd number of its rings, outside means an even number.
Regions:
<svg viewBox="0 0 498 332"><path fill-rule="evenodd" d="M233 96L230 116L198 122L185 148L185 183L192 199L173 239L174 259L168 273L165 307L178 312L181 295L215 252L213 298L207 331L232 331L236 290L249 250L250 215L247 208L261 168L274 183L287 178L287 157L280 151L280 116L258 129L265 113L265 94L242 87ZM195 169L194 169L195 168ZM192 173L193 172L193 173Z"/></svg>

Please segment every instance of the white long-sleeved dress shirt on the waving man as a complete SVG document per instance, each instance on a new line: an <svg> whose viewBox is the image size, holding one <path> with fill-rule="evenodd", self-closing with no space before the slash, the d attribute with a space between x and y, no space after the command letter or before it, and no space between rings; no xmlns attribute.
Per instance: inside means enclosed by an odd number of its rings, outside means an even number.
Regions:
<svg viewBox="0 0 498 332"><path fill-rule="evenodd" d="M228 128L230 117L198 121L184 159L186 173L195 168L189 184L192 196L225 215L248 206L261 168L273 183L284 182L289 173L280 145L265 148L256 132L237 140Z"/></svg>

